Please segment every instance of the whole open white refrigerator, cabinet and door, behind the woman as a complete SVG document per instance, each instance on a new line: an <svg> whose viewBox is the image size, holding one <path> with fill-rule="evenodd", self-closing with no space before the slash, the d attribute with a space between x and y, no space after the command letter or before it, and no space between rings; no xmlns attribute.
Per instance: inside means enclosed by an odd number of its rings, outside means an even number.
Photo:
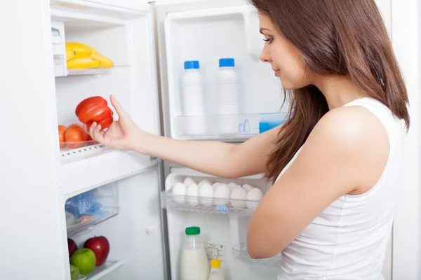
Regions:
<svg viewBox="0 0 421 280"><path fill-rule="evenodd" d="M392 1L377 3L392 31ZM208 258L220 258L225 279L276 279L279 255L254 260L247 253L246 229L254 210L246 201L241 207L229 199L192 204L172 193L175 183L187 177L196 183L249 184L265 193L270 184L262 174L216 178L95 142L60 147L58 135L58 125L80 123L74 110L81 100L101 96L109 102L109 94L142 130L173 139L240 144L261 133L263 123L281 123L288 100L281 108L280 80L259 59L264 41L258 15L248 3L38 0L1 6L1 36L8 42L1 47L6 97L1 112L7 132L1 145L6 191L2 278L69 280L67 238L82 248L87 239L105 236L107 261L79 279L180 279L185 228L199 226ZM89 45L114 66L69 69L65 42ZM240 113L234 116L239 129L229 134L215 125L221 120L218 59L224 57L235 59L241 92ZM203 134L186 132L196 118L182 110L180 82L187 60L200 62ZM78 217L71 209L81 201L99 207ZM393 256L391 239L385 279L392 279Z"/></svg>

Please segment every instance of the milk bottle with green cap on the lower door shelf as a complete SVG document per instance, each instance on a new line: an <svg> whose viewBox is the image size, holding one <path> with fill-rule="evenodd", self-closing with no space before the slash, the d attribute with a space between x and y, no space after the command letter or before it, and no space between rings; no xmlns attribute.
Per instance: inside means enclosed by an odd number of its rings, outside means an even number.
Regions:
<svg viewBox="0 0 421 280"><path fill-rule="evenodd" d="M208 280L209 260L200 238L200 228L186 228L185 243L181 255L181 280Z"/></svg>

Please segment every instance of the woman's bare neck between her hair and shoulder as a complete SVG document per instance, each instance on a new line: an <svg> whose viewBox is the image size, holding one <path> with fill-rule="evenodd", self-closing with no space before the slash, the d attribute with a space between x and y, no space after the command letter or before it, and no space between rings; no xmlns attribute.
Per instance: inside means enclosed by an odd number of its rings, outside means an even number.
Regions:
<svg viewBox="0 0 421 280"><path fill-rule="evenodd" d="M314 85L325 96L329 110L342 107L355 99L366 97L350 78L344 76L321 76L316 79Z"/></svg>

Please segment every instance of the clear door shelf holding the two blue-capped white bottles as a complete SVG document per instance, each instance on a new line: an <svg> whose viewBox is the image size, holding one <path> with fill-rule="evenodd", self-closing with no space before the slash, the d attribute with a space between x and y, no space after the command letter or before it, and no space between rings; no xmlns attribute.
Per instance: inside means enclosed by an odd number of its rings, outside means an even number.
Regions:
<svg viewBox="0 0 421 280"><path fill-rule="evenodd" d="M180 139L243 139L285 123L287 113L178 116L175 137Z"/></svg>

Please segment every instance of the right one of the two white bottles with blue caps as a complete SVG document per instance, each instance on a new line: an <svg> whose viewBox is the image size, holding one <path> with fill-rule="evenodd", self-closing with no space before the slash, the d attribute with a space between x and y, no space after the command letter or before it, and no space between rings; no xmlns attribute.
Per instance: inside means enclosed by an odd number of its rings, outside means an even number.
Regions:
<svg viewBox="0 0 421 280"><path fill-rule="evenodd" d="M219 60L217 78L219 99L220 134L239 132L239 77L235 71L234 58Z"/></svg>

